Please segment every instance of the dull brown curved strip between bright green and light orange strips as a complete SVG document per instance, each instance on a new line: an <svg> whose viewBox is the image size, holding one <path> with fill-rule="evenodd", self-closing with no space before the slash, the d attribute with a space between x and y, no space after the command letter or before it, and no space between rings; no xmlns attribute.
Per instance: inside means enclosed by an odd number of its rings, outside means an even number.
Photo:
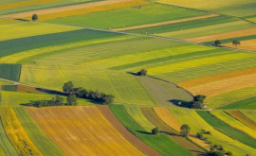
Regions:
<svg viewBox="0 0 256 156"><path fill-rule="evenodd" d="M192 142L188 141L182 136L179 136L179 133L172 128L170 128L168 125L166 125L153 111L151 107L141 107L141 112L145 115L145 117L154 124L157 128L159 128L160 133L166 133L171 139L174 140L174 142L178 143L182 147L186 147L188 150L192 151L196 155L200 155L205 153L205 150L203 150L201 147L198 147Z"/></svg>

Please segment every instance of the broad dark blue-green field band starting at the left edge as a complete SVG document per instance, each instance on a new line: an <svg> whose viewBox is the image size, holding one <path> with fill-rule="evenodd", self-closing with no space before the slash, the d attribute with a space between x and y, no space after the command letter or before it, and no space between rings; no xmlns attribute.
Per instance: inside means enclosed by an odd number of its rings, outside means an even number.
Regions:
<svg viewBox="0 0 256 156"><path fill-rule="evenodd" d="M35 48L120 36L117 33L81 29L0 42L0 57Z"/></svg>

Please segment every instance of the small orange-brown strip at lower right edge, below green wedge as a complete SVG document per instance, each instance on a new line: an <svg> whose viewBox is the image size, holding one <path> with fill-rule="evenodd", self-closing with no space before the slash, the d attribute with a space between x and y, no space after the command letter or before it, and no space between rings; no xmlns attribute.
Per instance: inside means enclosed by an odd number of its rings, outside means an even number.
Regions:
<svg viewBox="0 0 256 156"><path fill-rule="evenodd" d="M243 124L247 125L252 130L256 130L256 123L248 118L244 113L241 113L239 111L227 111L230 115L232 115L234 118L242 122Z"/></svg>

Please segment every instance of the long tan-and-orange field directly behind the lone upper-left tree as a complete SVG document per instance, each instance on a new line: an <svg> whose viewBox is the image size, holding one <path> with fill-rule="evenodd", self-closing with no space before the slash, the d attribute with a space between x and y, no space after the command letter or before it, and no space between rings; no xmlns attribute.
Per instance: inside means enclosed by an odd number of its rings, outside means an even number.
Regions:
<svg viewBox="0 0 256 156"><path fill-rule="evenodd" d="M144 0L106 0L61 8L41 9L23 13L9 14L8 17L30 19L32 14L36 13L40 16L40 21L46 21L60 17L80 15L110 9L129 8L145 4L150 3Z"/></svg>

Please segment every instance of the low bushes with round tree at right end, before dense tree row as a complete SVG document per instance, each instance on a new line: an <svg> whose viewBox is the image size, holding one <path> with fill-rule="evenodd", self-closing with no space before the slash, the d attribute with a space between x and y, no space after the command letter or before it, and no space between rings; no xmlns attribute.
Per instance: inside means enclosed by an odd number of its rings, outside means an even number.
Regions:
<svg viewBox="0 0 256 156"><path fill-rule="evenodd" d="M33 101L32 105L35 107L74 106L77 105L77 97L75 95L68 95L66 97L66 102L64 102L64 97L56 95L50 100Z"/></svg>

